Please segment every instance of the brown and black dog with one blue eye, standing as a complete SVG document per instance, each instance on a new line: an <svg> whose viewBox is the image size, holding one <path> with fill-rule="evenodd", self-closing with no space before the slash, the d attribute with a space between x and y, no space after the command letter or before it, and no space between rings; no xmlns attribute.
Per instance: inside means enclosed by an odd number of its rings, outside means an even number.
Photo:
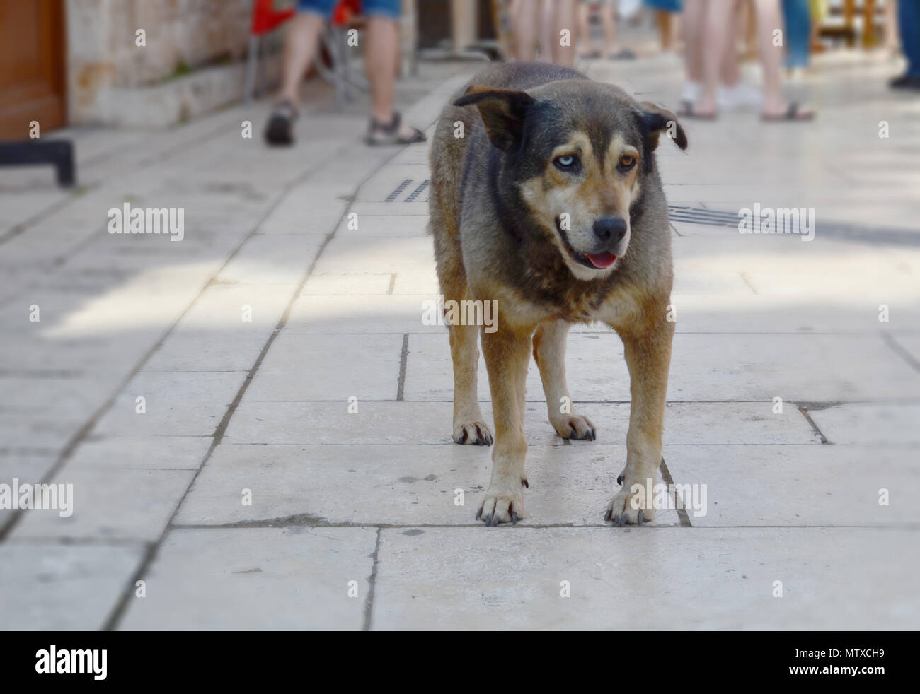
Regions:
<svg viewBox="0 0 920 694"><path fill-rule="evenodd" d="M558 435L594 438L591 420L563 406L571 402L563 400L569 324L590 321L623 339L631 380L623 488L605 518L624 525L654 516L645 495L630 501L634 484L657 479L673 337L671 232L654 156L662 131L686 148L670 111L546 63L491 66L443 109L430 200L443 298L494 300L498 308L498 329L481 335L496 435L477 514L487 525L524 515L532 349ZM602 219L607 226L597 231ZM615 262L603 269L588 257L601 257L603 267L609 253ZM478 332L450 326L454 441L489 445L477 398Z"/></svg>

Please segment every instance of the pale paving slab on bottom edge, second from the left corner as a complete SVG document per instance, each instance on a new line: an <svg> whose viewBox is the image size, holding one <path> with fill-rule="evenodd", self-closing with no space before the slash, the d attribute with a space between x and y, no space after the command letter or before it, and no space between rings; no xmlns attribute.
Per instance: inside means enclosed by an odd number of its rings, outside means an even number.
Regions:
<svg viewBox="0 0 920 694"><path fill-rule="evenodd" d="M120 629L359 630L376 538L363 528L173 530Z"/></svg>

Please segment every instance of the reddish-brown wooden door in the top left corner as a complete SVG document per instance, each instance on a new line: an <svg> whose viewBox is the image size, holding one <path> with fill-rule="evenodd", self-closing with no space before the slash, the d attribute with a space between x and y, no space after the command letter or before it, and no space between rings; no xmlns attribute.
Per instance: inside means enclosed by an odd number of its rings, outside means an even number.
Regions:
<svg viewBox="0 0 920 694"><path fill-rule="evenodd" d="M66 122L63 0L0 0L0 140Z"/></svg>

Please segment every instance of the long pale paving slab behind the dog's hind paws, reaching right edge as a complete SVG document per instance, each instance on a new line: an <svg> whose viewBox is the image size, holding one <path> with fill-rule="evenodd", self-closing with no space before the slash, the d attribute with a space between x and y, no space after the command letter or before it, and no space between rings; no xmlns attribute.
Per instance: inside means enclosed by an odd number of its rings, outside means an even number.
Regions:
<svg viewBox="0 0 920 694"><path fill-rule="evenodd" d="M448 400L453 365L447 336L410 335L407 400ZM623 345L613 331L571 333L566 353L575 402L623 400L629 392ZM852 365L860 364L854 370ZM479 397L488 376L479 359ZM674 337L668 381L670 401L833 402L915 397L920 372L895 355L880 336L795 334L690 334ZM531 362L527 400L542 400Z"/></svg>

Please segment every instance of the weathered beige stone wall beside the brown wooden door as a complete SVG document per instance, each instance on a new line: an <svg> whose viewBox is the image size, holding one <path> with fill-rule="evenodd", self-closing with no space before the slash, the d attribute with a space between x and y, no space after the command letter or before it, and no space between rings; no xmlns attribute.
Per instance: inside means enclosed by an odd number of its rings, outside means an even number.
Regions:
<svg viewBox="0 0 920 694"><path fill-rule="evenodd" d="M71 123L168 125L242 95L252 0L66 0L65 11ZM263 40L279 45L280 32Z"/></svg>

